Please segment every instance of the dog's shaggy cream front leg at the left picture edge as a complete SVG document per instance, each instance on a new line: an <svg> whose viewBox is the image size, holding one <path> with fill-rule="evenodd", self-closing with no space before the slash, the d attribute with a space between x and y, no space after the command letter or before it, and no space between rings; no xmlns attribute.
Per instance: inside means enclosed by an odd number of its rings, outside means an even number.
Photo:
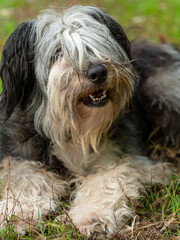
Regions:
<svg viewBox="0 0 180 240"><path fill-rule="evenodd" d="M56 200L65 195L67 183L46 171L40 162L8 157L0 167L1 228L8 221L15 231L23 233L26 226L54 210Z"/></svg>

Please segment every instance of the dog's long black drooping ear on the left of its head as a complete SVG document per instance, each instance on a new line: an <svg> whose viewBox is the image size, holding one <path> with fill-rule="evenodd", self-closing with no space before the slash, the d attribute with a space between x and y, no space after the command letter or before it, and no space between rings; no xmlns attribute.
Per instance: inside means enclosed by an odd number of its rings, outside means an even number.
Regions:
<svg viewBox="0 0 180 240"><path fill-rule="evenodd" d="M35 84L33 69L35 36L33 22L20 24L8 38L0 64L3 91L0 96L0 112L8 119L19 104L23 109Z"/></svg>

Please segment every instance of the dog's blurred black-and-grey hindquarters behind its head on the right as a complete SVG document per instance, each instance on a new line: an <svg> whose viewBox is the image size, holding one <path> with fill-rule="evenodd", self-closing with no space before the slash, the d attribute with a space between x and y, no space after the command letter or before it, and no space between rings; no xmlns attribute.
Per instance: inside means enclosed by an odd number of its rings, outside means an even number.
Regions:
<svg viewBox="0 0 180 240"><path fill-rule="evenodd" d="M135 85L134 105L144 137L147 139L153 129L160 127L159 137L162 138L162 143L168 139L171 144L179 145L179 50L168 44L156 45L140 41L132 42L131 54L139 77ZM147 86L149 79L152 87ZM174 101L175 98L177 102Z"/></svg>

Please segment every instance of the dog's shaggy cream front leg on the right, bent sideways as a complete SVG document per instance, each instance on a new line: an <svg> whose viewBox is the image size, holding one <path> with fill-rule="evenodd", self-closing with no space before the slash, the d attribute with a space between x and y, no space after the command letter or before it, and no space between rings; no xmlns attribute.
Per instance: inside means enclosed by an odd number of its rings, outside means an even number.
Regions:
<svg viewBox="0 0 180 240"><path fill-rule="evenodd" d="M139 161L87 177L77 190L69 212L73 223L81 233L97 234L98 239L128 230L130 227L125 223L133 217L132 206L145 191L144 184L162 183L163 171L162 164L153 166Z"/></svg>

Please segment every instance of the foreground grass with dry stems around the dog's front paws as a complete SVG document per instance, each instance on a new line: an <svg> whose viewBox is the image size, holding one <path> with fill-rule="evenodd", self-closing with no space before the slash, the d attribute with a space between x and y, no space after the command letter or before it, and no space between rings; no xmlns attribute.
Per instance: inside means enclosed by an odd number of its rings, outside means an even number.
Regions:
<svg viewBox="0 0 180 240"><path fill-rule="evenodd" d="M166 186L154 186L147 189L147 195L134 209L135 224L133 231L114 239L175 239L180 237L180 178L172 177ZM133 206L134 208L134 206ZM39 221L35 226L27 225L26 234L19 235L11 221L7 228L0 230L1 239L61 239L85 240L69 220L67 211L69 203L64 201L57 206L57 211ZM62 215L63 214L63 215ZM61 220L56 216L62 216ZM12 217L14 220L15 217ZM33 224L33 223L32 223ZM178 238L177 238L178 239Z"/></svg>

